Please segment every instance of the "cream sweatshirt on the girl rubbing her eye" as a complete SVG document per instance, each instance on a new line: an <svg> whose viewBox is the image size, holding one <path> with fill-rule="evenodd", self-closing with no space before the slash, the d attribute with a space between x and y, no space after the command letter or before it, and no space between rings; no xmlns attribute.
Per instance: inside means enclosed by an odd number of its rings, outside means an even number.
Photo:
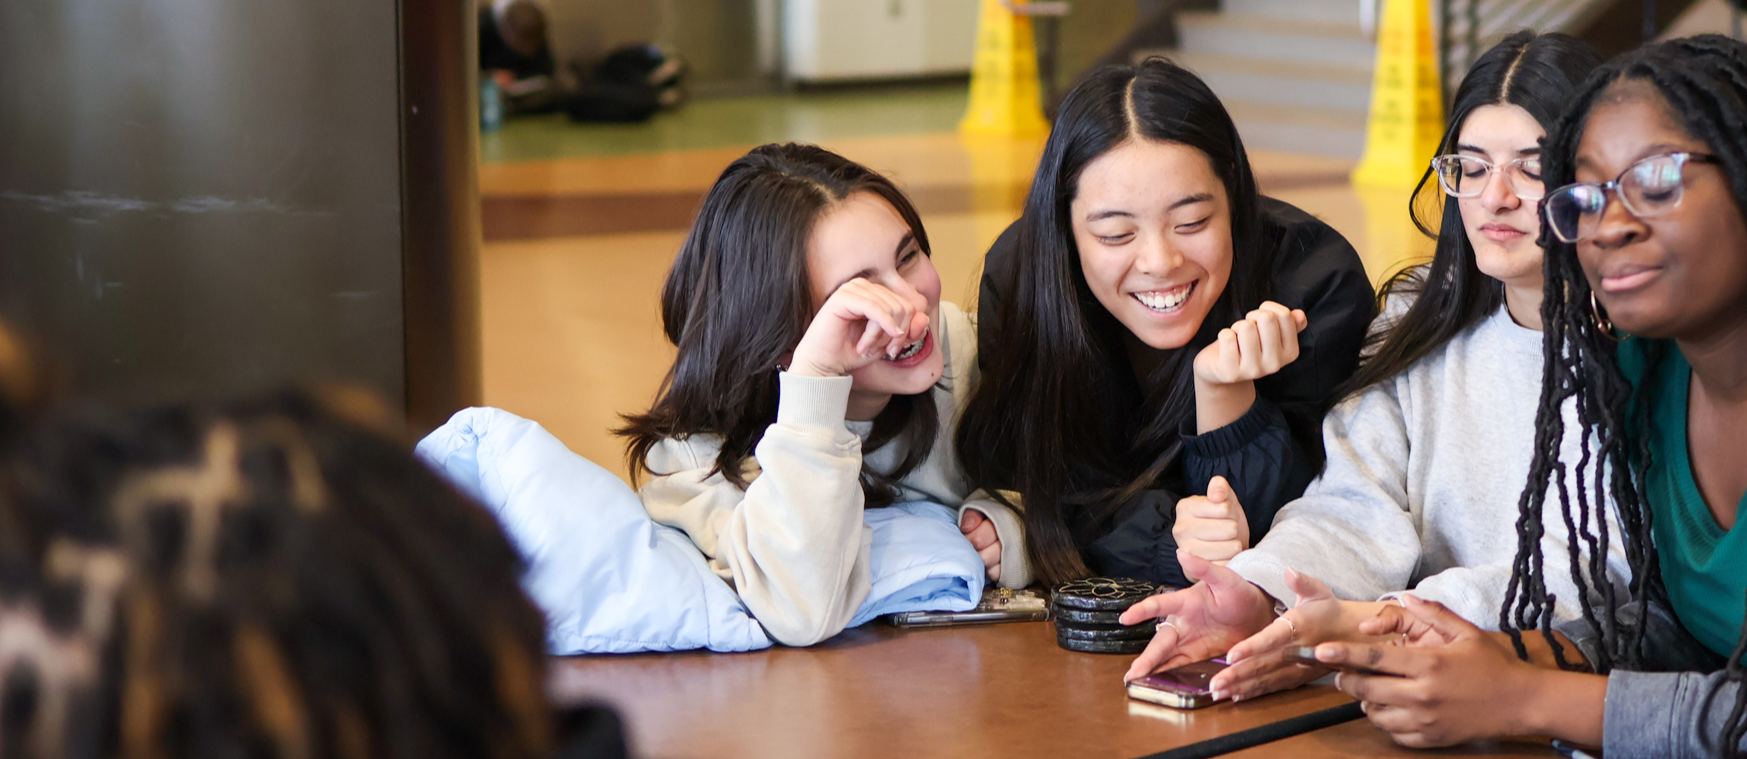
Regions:
<svg viewBox="0 0 1747 759"><path fill-rule="evenodd" d="M929 390L940 434L919 467L898 481L898 500L929 500L987 516L1001 539L1006 588L1031 582L1019 514L971 491L952 448L959 411L977 385L977 334L950 303L940 304L935 341L945 371ZM851 378L777 378L776 423L765 428L741 472L741 490L715 467L722 439L666 439L648 455L652 477L638 495L650 518L683 530L718 577L734 582L746 609L781 644L811 645L849 624L872 588L872 530L861 523L861 465L891 472L896 442L863 455L872 421L846 421Z"/></svg>

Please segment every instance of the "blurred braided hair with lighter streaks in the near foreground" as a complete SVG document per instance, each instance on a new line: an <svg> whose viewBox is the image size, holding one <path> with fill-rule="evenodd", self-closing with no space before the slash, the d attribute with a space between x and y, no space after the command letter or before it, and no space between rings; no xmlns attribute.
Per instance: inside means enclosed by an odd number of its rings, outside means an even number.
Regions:
<svg viewBox="0 0 1747 759"><path fill-rule="evenodd" d="M0 472L0 756L550 754L514 547L328 404L68 414Z"/></svg>

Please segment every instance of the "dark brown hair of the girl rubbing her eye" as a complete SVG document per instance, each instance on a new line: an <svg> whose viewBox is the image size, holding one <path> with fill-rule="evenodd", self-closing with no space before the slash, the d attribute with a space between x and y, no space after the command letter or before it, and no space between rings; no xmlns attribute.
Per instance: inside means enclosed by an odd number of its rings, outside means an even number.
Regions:
<svg viewBox="0 0 1747 759"><path fill-rule="evenodd" d="M680 348L655 404L625 414L632 476L664 437L718 435L715 470L744 488L741 467L776 423L776 366L812 322L807 241L826 210L856 192L889 203L929 254L922 217L889 178L816 145L763 145L728 164L704 196L662 287L662 325ZM903 446L893 472L861 469L867 505L887 505L896 481L935 446L931 393L894 395L863 449ZM894 442L896 441L896 442ZM673 472L650 472L673 474Z"/></svg>

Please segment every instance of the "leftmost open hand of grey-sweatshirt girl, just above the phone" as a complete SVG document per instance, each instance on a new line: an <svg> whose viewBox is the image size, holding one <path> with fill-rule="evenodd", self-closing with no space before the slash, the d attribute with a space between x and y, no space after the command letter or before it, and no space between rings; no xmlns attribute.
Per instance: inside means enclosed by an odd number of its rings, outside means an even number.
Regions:
<svg viewBox="0 0 1747 759"><path fill-rule="evenodd" d="M1177 549L1188 589L1148 596L1122 612L1123 624L1162 619L1153 642L1134 659L1122 679L1136 680L1153 672L1211 659L1247 638L1274 619L1274 602L1237 572Z"/></svg>

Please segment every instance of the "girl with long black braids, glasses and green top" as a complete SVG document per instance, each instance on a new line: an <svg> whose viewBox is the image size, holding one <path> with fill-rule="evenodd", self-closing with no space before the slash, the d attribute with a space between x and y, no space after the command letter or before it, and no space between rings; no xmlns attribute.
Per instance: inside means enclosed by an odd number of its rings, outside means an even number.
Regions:
<svg viewBox="0 0 1747 759"><path fill-rule="evenodd" d="M1364 626L1415 645L1322 644L1370 719L1406 745L1497 735L1599 743L1609 757L1744 756L1747 598L1747 45L1705 35L1597 70L1546 145L1546 353L1502 633L1438 603ZM1553 441L1576 402L1593 449ZM1579 533L1541 547L1548 490ZM1619 530L1602 512L1612 500ZM1626 593L1599 560L1623 542ZM1557 567L1597 603L1551 621ZM1525 637L1525 631L1534 631ZM1523 661L1530 638L1551 663ZM1663 672L1667 670L1667 672ZM1595 673L1590 673L1595 672Z"/></svg>

